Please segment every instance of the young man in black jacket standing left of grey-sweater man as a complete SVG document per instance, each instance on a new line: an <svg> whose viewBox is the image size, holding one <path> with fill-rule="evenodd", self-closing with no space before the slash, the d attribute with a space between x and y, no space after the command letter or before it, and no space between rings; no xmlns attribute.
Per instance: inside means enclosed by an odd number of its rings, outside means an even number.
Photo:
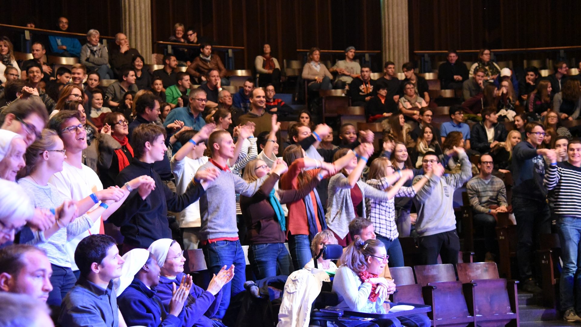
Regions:
<svg viewBox="0 0 581 327"><path fill-rule="evenodd" d="M213 124L203 127L192 142L203 142L212 128ZM141 124L135 128L131 139L133 162L117 176L117 185L124 185L125 182L141 175L148 175L155 181L155 189L150 190L153 192L150 196L130 189L131 193L123 203L124 208L117 210L109 218L115 225L121 227L121 234L125 237L124 253L138 247L146 249L158 239L171 238L167 210L182 211L196 202L205 192L207 183L213 181L218 174L216 169L198 171L184 194L177 195L172 192L153 169L153 163L163 160L166 156L165 138L166 131L163 127ZM125 207L132 209L125 210Z"/></svg>

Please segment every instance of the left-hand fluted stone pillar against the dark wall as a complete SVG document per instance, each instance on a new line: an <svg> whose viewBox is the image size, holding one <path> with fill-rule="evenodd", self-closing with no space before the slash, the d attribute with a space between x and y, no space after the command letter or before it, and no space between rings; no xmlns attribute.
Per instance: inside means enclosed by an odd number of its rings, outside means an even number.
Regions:
<svg viewBox="0 0 581 327"><path fill-rule="evenodd" d="M152 63L151 2L121 0L121 11L123 33L127 35L129 45L141 53L146 63Z"/></svg>

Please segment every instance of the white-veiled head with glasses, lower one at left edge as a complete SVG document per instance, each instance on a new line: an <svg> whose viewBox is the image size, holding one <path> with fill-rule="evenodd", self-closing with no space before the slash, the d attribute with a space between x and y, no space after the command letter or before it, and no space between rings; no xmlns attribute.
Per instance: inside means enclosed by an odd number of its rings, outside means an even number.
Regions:
<svg viewBox="0 0 581 327"><path fill-rule="evenodd" d="M0 179L0 246L13 241L15 233L33 217L33 203L22 186Z"/></svg>

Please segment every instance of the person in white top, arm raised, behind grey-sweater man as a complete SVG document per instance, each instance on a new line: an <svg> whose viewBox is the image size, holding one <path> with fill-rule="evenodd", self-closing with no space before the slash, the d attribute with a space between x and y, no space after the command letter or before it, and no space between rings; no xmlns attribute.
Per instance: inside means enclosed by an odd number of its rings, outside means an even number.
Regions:
<svg viewBox="0 0 581 327"><path fill-rule="evenodd" d="M180 135L179 141L182 147L171 157L170 161L171 173L175 177L176 193L184 194L198 168L208 162L209 158L204 156L206 150L204 142L214 127L216 125L207 124L199 132L189 130ZM199 202L190 204L178 213L177 219L184 239L184 250L198 249L198 233L202 224Z"/></svg>

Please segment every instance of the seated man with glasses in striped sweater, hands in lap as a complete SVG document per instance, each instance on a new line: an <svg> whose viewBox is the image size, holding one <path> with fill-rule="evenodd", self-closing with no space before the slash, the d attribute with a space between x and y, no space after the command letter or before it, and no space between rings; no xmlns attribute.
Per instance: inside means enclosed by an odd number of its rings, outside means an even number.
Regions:
<svg viewBox="0 0 581 327"><path fill-rule="evenodd" d="M498 254L496 240L496 213L508 211L507 190L502 179L492 174L494 162L489 154L482 154L478 163L480 174L466 184L470 206L474 212L474 229L483 231L485 261L494 261Z"/></svg>

